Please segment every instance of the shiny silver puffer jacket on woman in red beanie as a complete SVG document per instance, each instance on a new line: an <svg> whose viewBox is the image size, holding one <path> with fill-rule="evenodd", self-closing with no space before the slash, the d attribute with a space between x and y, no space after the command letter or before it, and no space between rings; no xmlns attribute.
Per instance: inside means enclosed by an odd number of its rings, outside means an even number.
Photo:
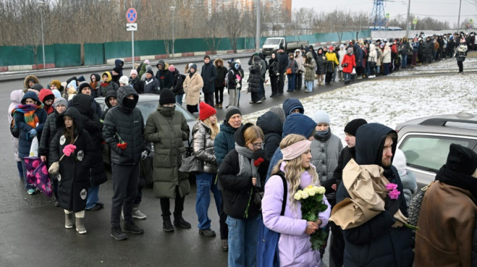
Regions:
<svg viewBox="0 0 477 267"><path fill-rule="evenodd" d="M204 172L217 173L214 140L210 138L210 132L209 126L198 121L192 128L192 146L194 155L204 163Z"/></svg>

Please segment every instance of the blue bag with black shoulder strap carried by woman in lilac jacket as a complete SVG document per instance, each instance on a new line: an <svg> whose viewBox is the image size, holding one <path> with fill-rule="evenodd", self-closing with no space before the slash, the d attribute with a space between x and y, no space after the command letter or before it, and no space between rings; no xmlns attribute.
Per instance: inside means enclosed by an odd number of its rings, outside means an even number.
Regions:
<svg viewBox="0 0 477 267"><path fill-rule="evenodd" d="M285 173L282 171L272 174L278 175L283 181L283 202L282 211L280 215L285 213L285 206L287 205L288 186L285 179ZM257 240L257 267L279 267L280 260L278 256L278 240L280 240L280 233L270 230L265 226L263 220L259 224L260 237Z"/></svg>

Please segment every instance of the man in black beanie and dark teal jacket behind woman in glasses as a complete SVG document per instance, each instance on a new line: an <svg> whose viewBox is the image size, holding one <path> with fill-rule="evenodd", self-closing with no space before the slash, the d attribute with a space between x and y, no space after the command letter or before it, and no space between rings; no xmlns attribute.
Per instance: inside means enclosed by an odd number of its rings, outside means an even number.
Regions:
<svg viewBox="0 0 477 267"><path fill-rule="evenodd" d="M229 107L225 111L225 120L220 124L220 131L214 140L214 153L217 166L220 167L225 155L235 148L235 140L233 135L242 126L242 113L236 107ZM219 189L221 189L219 187ZM222 197L223 198L223 197ZM223 201L220 206L219 223L220 223L220 248L223 251L228 250L228 228L225 220L227 214L223 211Z"/></svg>

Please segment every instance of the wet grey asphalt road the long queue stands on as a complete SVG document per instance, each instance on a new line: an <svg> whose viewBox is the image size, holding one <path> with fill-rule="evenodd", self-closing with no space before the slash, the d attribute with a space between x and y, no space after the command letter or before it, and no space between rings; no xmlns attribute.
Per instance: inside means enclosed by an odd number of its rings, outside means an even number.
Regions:
<svg viewBox="0 0 477 267"><path fill-rule="evenodd" d="M212 57L212 60L214 57ZM241 58L247 70L247 58ZM198 68L201 61L197 62ZM184 70L185 63L175 64ZM79 72L78 70L74 70ZM91 75L90 69L83 75ZM129 71L124 71L129 75ZM47 86L50 79L66 81L73 75L65 75L64 71L45 72L51 74L40 78L41 84ZM45 73L43 75L45 75ZM42 75L41 73L39 76ZM79 76L80 74L74 74ZM26 76L26 75L24 75ZM0 139L4 145L0 148L0 266L226 266L227 253L220 250L220 238L205 237L198 234L197 215L195 213L196 187L191 184L191 193L186 197L183 217L191 222L191 229L177 229L173 233L162 230L162 219L159 199L154 198L151 188L143 191L141 211L148 217L136 220L145 229L144 234L128 234L126 241L116 241L109 237L110 206L112 197L111 173L109 180L100 186L99 198L104 208L98 211L86 211L85 226L87 234L79 235L74 229L64 227L64 212L54 207L53 199L41 193L28 195L23 180L18 176L13 156L10 132L7 121L7 107L10 104L10 92L23 89L23 78L11 80L0 76L0 106L4 116L0 117ZM3 82L2 82L3 80ZM8 81L5 81L8 80ZM250 95L242 94L240 109L248 114L281 104L288 97L303 98L318 95L342 86L332 83L329 86L314 88L313 93L287 93L279 98L268 98L270 87L266 87L267 100L263 104L250 105ZM285 85L286 90L286 85ZM228 104L224 98L224 107ZM217 111L218 119L225 117L225 108ZM173 210L171 201L171 210ZM219 230L213 197L209 208L212 229ZM325 254L324 262L328 262Z"/></svg>

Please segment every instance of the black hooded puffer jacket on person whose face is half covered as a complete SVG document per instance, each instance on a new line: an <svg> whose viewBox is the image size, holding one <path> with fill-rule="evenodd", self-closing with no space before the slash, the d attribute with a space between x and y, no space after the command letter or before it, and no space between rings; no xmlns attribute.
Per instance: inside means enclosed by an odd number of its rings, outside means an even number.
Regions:
<svg viewBox="0 0 477 267"><path fill-rule="evenodd" d="M124 99L134 96L133 109L124 106ZM104 118L103 138L111 148L111 162L122 165L134 165L141 160L145 149L144 119L136 108L139 95L131 86L122 86L117 90L117 106L111 108ZM117 135L116 135L117 134ZM118 136L127 143L126 149L118 148Z"/></svg>

